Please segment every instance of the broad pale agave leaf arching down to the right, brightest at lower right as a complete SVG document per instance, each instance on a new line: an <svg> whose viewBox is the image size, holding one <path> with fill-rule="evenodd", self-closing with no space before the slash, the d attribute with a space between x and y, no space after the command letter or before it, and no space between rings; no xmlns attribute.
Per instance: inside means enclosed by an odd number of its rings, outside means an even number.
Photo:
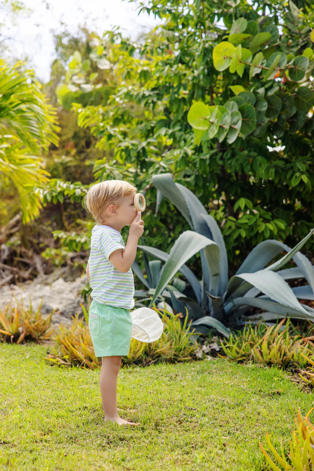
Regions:
<svg viewBox="0 0 314 471"><path fill-rule="evenodd" d="M234 278L238 277L255 286L270 299L282 304L282 306L297 309L304 314L306 313L306 310L299 303L290 286L277 273L267 269L259 270L255 273L241 273L240 275L233 276L229 284L232 286Z"/></svg>

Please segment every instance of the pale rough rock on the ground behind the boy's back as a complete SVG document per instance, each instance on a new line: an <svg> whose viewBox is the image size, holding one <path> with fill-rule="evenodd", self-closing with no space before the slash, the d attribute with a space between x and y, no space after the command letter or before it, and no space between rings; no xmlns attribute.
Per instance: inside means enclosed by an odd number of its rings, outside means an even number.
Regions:
<svg viewBox="0 0 314 471"><path fill-rule="evenodd" d="M58 271L59 276L60 273ZM21 303L22 300L23 305L27 307L30 306L31 300L33 311L36 312L42 299L40 310L43 317L56 309L56 313L52 316L54 324L59 324L62 319L71 319L71 316L74 316L76 312L79 312L81 317L83 311L80 302L84 303L84 300L81 298L80 293L87 283L87 276L84 274L76 277L73 281L66 281L63 277L54 280L54 276L51 275L53 274L41 276L40 280L35 279L33 282L1 287L0 309L3 309L9 302L14 305L14 297L16 297L17 302ZM63 275L70 276L69 271L63 270ZM50 284L47 284L47 282L50 282Z"/></svg>

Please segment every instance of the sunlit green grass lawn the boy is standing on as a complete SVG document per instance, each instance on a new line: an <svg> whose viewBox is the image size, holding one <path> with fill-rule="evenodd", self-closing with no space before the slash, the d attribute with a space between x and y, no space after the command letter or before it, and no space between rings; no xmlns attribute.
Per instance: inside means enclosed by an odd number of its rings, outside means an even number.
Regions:
<svg viewBox="0 0 314 471"><path fill-rule="evenodd" d="M0 344L1 470L269 470L269 432L287 450L311 393L276 368L224 359L122 369L118 406L140 422L102 419L99 371L62 370L46 347Z"/></svg>

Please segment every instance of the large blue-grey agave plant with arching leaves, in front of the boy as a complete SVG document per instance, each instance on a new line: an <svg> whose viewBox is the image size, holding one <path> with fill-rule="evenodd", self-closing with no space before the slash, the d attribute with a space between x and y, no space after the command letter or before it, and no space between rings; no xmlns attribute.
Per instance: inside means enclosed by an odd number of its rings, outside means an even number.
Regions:
<svg viewBox="0 0 314 471"><path fill-rule="evenodd" d="M195 299L186 299L182 293L178 295L172 289L171 300L175 299L187 307L194 318L192 328L214 327L229 337L230 327L245 324L244 314L251 307L266 311L263 318L267 321L278 317L314 320L314 309L298 301L314 300L314 268L306 256L299 253L314 229L293 249L278 240L261 242L250 252L236 274L228 279L227 252L215 219L206 212L192 191L175 183L169 173L154 175L153 184L157 187L157 202L160 202L161 196L168 198L192 230L178 237L169 254L154 247L138 246L146 254L165 262L154 287L150 307L164 295L166 287L169 290L170 280L180 271L191 285ZM283 251L287 253L269 265ZM201 281L185 266L185 262L197 252L201 254ZM291 259L296 267L282 269ZM138 270L135 273L138 274ZM142 275L140 279L143 281L143 278ZM290 288L285 280L293 278L305 278L308 284ZM146 279L145 282L147 286Z"/></svg>

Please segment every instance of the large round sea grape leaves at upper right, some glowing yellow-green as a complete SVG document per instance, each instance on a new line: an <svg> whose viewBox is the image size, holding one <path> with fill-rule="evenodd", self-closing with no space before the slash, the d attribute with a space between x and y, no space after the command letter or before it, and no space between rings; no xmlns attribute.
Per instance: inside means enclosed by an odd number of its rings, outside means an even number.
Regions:
<svg viewBox="0 0 314 471"><path fill-rule="evenodd" d="M298 47L300 49L299 52L301 53L304 50L304 44L311 45L309 24L313 23L314 17L312 18L312 16L301 13L301 11L299 11L291 1L290 8L294 11L295 16L300 19L300 24L298 24L297 38ZM258 18L258 15L256 17ZM289 18L289 16L285 16L286 20L287 18ZM249 28L249 31L251 30L251 25L250 27L248 26L247 20L243 17L240 17L233 23L233 26L230 30L230 36L228 36L228 41L219 42L213 49L213 65L219 72L225 71L227 68L229 68L229 73L233 74L236 72L242 78L245 67L247 67L247 69L250 67L250 82L247 82L246 80L247 89L250 91L243 91L240 94L237 94L237 96L242 96L245 101L247 101L245 96L246 94L250 95L250 97L253 99L252 101L249 98L251 106L249 107L248 104L245 105L244 102L241 105L237 100L233 100L238 106L240 105L239 111L242 115L243 123L239 132L240 136L243 138L253 133L255 130L258 130L256 135L261 138L264 134L267 133L267 131L269 132L269 129L273 128L273 126L271 126L272 122L276 121L276 118L282 109L282 93L289 94L288 96L291 98L294 96L294 113L292 113L291 116L297 113L297 110L303 111L305 113L303 117L300 117L300 114L298 114L302 125L307 126L307 122L309 122L309 125L311 126L313 121L311 116L306 115L309 109L313 106L313 90L310 89L310 77L314 68L314 61L309 60L309 58L313 57L312 48L307 48L308 50L306 51L305 55L304 52L302 55L298 55L297 57L294 57L292 54L287 55L286 53L289 52L289 49L287 50L286 46L284 43L282 44L281 41L278 42L278 27L274 24L269 24L268 26L264 27L263 24L261 24L261 26L262 31L258 32L253 37L251 34L232 34L232 32L237 29L239 29L239 31L246 31L247 28ZM287 38L288 36L289 38L290 33L287 30L287 28L289 29L289 23L285 26L286 27L283 29L285 34L284 37ZM258 23L256 23L256 29L258 29ZM305 30L307 36L303 35ZM302 34L300 33L301 31ZM245 43L249 47L250 54L245 52L248 49L242 49L241 44L235 46L240 42ZM278 50L277 52L273 52L271 55L269 55L269 50L274 51L274 43L278 47ZM287 45L288 44L289 40ZM280 48L284 50L284 52L282 52ZM262 49L262 51L259 51L259 49ZM294 53L295 52L296 51L294 51ZM252 54L255 54L255 56L252 57ZM275 84L269 83L269 81L273 81L274 78L277 79ZM237 85L233 85L233 87L236 86ZM238 86L242 86L242 84L238 84ZM264 101L265 107L263 109L261 109L261 107L256 107L254 109L253 106L256 102L256 99L260 96L266 98L266 102ZM192 105L189 111L189 114L193 113L193 120L188 119L188 121L196 131L200 129L200 127L197 126L197 120L201 119L202 116L201 105L204 106L204 104L196 102ZM222 103L220 106L221 105ZM218 106L213 109L213 112L216 109L218 109ZM258 121L256 119L257 113ZM276 135L277 138L281 138L286 130L287 133L290 131L291 116L288 117L284 112L281 113L280 133L278 130L273 131L273 134ZM262 127L259 127L259 129L258 123L262 123ZM212 139L215 136L218 138L219 142L222 142L229 128L232 130L235 129L234 125L230 121L224 123L220 121L219 125L223 126L225 129L223 138L219 137L217 128L216 132L211 132L208 134L204 132L202 135L202 142ZM208 128L209 122L205 121L201 129L206 131ZM199 142L198 132L195 133L195 138L197 142ZM230 141L228 142L230 144Z"/></svg>

